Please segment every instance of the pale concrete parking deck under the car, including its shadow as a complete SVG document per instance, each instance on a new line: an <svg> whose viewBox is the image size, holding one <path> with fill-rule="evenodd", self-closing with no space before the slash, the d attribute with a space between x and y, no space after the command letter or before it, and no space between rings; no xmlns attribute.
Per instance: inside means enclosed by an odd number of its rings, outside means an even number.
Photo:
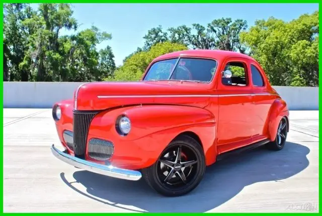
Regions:
<svg viewBox="0 0 322 216"><path fill-rule="evenodd" d="M50 109L4 109L4 212L318 212L318 111L291 111L283 150L257 148L208 167L200 185L163 197L56 159Z"/></svg>

